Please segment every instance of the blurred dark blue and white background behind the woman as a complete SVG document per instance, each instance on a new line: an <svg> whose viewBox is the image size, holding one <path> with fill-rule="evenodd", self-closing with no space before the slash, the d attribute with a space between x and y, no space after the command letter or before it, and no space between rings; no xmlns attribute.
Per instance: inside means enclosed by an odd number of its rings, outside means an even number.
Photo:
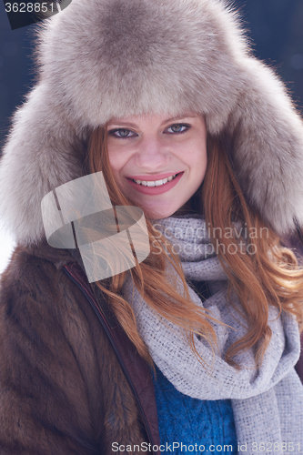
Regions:
<svg viewBox="0 0 303 455"><path fill-rule="evenodd" d="M7 0L6 0L7 1ZM255 55L273 66L303 112L303 1L236 0ZM35 83L32 57L36 25L11 29L0 0L0 146L5 142L16 106ZM14 240L0 231L0 273Z"/></svg>

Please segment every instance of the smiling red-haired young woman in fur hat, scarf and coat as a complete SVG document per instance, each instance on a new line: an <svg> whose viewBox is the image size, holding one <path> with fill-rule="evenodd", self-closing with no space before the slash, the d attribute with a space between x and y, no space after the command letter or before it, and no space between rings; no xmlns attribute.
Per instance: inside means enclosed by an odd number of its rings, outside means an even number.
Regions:
<svg viewBox="0 0 303 455"><path fill-rule="evenodd" d="M278 77L217 0L74 0L37 55L0 164L1 453L303 453L303 271L280 241L303 126ZM134 267L87 279L96 231Z"/></svg>

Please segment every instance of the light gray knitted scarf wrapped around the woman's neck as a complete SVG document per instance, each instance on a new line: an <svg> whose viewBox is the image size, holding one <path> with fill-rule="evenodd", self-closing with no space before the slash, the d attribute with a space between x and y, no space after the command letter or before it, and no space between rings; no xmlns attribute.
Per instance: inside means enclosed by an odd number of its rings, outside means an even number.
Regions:
<svg viewBox="0 0 303 455"><path fill-rule="evenodd" d="M278 309L270 307L272 338L262 365L256 368L250 349L235 358L241 369L231 367L224 353L246 333L247 325L235 309L239 305L236 295L235 308L228 304L227 276L210 244L205 220L168 217L157 220L154 226L179 254L186 278L207 281L211 297L202 304L189 288L190 298L227 324L213 323L218 339L215 358L207 342L195 338L197 352L205 360L202 365L188 345L185 330L150 308L128 277L123 294L132 301L138 331L157 367L177 390L192 398L231 399L242 451L303 454L303 386L294 369L300 349L296 320L287 313L278 318Z"/></svg>

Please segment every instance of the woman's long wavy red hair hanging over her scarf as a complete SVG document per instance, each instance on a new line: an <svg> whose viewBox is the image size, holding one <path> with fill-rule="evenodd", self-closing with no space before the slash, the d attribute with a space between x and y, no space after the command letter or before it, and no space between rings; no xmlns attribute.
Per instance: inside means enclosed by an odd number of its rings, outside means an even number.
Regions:
<svg viewBox="0 0 303 455"><path fill-rule="evenodd" d="M254 349L257 364L262 361L271 337L268 327L268 308L278 308L279 313L286 311L303 320L303 269L291 249L281 245L278 235L265 225L262 218L251 207L237 184L235 172L225 148L226 141L215 137L207 138L207 173L197 192L200 210L207 221L210 240L216 248L217 256L227 273L228 297L237 292L241 304L242 316L247 320L247 334L238 339L226 352L226 361L240 367L233 360L240 351ZM136 205L122 194L116 185L111 171L106 144L106 126L100 126L91 132L86 156L86 172L102 171L106 180L109 197L114 206ZM240 251L240 238L235 233L235 221L245 225L247 232L256 232L250 236L250 252ZM187 330L188 342L194 353L194 335L207 339L215 349L217 339L211 325L213 319L205 308L197 308L189 298L186 278L180 259L165 238L146 219L150 240L150 254L143 262L136 261L136 267L130 270L136 288L145 298L146 303L169 321ZM222 235L222 232L229 235ZM266 236L258 235L265 229ZM233 234L234 233L234 234ZM235 254L236 246L236 254ZM253 252L253 253L252 253ZM176 273L167 279L164 271L167 261L177 271L184 292L177 291ZM152 362L148 349L141 339L136 318L131 304L121 295L121 288L126 279L126 272L112 278L98 281L96 286L106 294L116 319L135 344L138 353ZM200 359L203 362L203 359Z"/></svg>

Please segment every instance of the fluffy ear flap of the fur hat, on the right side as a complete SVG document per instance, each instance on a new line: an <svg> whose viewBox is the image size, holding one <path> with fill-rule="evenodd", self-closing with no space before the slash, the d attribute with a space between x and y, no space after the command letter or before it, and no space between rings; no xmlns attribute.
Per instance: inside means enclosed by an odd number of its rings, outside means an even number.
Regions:
<svg viewBox="0 0 303 455"><path fill-rule="evenodd" d="M248 202L279 234L303 226L303 125L278 76L255 58L243 62L242 91L227 130Z"/></svg>

